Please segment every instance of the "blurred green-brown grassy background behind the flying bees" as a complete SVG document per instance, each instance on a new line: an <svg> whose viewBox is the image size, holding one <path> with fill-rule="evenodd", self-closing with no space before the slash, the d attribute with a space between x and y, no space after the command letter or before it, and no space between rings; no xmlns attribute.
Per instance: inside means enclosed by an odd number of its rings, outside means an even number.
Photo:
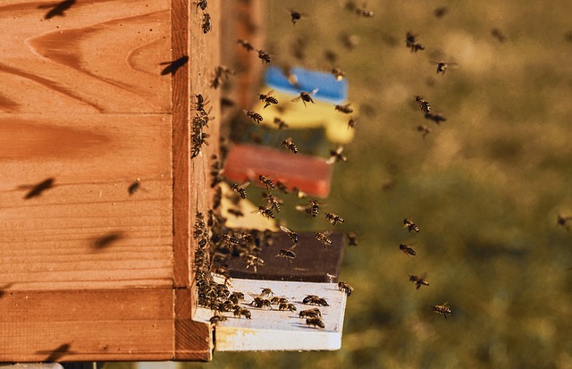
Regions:
<svg viewBox="0 0 572 369"><path fill-rule="evenodd" d="M572 215L572 3L368 0L373 18L345 1L265 4L273 63L330 71L324 51L335 52L361 109L326 200L346 219L336 228L360 238L340 276L355 288L342 348L215 352L180 367L572 368L572 233L556 225ZM289 10L303 14L295 26ZM408 31L425 51L408 50ZM458 69L437 74L432 60ZM425 120L416 95L447 122ZM430 286L417 290L408 274L422 273ZM449 319L430 307L444 301Z"/></svg>

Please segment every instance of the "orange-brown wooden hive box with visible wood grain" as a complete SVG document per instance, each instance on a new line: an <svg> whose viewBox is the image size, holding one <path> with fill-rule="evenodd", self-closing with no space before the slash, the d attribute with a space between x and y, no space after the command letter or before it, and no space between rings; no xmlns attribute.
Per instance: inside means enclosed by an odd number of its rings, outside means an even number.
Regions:
<svg viewBox="0 0 572 369"><path fill-rule="evenodd" d="M220 6L204 34L189 1L1 2L0 362L211 358L189 232L218 128L191 161L189 117L220 114Z"/></svg>

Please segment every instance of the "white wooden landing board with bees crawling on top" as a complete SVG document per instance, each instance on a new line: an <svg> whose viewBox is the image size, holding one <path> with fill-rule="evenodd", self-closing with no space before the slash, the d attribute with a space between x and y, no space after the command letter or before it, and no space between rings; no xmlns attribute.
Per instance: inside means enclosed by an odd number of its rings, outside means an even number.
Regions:
<svg viewBox="0 0 572 369"><path fill-rule="evenodd" d="M262 289L273 290L274 297L287 298L297 310L280 311L250 306ZM227 319L214 328L216 351L261 350L335 350L341 348L341 331L346 306L346 294L335 283L293 281L231 280L231 290L242 291L246 299L240 307L248 308L252 319L237 318L225 313ZM307 295L325 298L329 306L317 306L322 313L324 328L308 326L299 312L316 307L303 304ZM271 297L272 298L272 297ZM208 322L210 309L199 307L194 319Z"/></svg>

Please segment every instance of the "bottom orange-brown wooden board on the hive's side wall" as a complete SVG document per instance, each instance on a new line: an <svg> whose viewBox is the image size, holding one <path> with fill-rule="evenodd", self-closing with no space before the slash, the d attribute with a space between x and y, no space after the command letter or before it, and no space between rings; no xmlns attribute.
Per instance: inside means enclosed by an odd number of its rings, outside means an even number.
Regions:
<svg viewBox="0 0 572 369"><path fill-rule="evenodd" d="M172 289L3 292L0 361L172 358Z"/></svg>

